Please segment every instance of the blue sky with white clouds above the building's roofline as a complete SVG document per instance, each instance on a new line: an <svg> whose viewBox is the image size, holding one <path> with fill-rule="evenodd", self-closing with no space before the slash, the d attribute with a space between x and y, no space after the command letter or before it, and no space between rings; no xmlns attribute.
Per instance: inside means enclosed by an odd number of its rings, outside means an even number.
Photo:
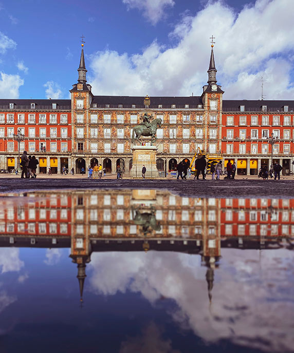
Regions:
<svg viewBox="0 0 294 353"><path fill-rule="evenodd" d="M210 37L224 99L294 96L292 0L4 0L0 99L68 99L84 35L95 95L190 96Z"/></svg>

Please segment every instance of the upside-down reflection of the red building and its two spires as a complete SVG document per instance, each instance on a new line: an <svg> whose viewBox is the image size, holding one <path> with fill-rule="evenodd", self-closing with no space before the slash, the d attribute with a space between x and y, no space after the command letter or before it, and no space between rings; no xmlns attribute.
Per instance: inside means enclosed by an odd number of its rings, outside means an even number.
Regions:
<svg viewBox="0 0 294 353"><path fill-rule="evenodd" d="M82 301L86 264L102 251L199 254L208 297L222 247L293 248L294 200L197 199L166 190L3 194L0 246L70 247Z"/></svg>

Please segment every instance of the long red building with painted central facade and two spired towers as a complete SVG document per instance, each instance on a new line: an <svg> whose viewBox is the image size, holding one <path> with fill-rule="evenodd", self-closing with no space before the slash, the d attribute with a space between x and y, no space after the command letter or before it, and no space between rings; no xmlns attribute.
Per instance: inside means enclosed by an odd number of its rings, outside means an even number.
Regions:
<svg viewBox="0 0 294 353"><path fill-rule="evenodd" d="M282 165L283 174L294 171L294 101L223 100L213 45L208 84L200 96L96 96L86 72L82 49L69 100L0 100L0 169L16 168L20 147L39 159L40 173L48 167L52 173L61 173L63 167L79 173L95 163L108 173L117 165L129 170L133 128L148 112L162 120L156 142L160 170L191 161L200 147L209 158L222 158L225 166L228 159L235 161L238 174L254 175L271 164L267 138L273 133L279 138L273 162ZM13 136L17 130L25 135L20 146Z"/></svg>

